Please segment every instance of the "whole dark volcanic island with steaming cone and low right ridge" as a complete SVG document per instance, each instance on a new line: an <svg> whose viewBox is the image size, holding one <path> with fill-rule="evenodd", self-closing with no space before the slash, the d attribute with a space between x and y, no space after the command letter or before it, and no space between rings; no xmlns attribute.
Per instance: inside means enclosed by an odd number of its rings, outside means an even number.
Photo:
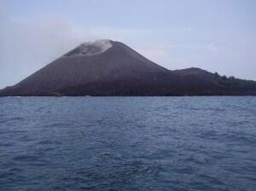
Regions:
<svg viewBox="0 0 256 191"><path fill-rule="evenodd" d="M0 96L245 96L256 82L200 68L168 70L124 43L97 40L49 63Z"/></svg>

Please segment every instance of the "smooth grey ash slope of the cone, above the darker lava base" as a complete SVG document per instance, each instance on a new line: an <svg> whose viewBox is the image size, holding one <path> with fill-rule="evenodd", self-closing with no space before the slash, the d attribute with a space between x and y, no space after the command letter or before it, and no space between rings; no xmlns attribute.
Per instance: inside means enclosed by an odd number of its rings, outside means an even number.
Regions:
<svg viewBox="0 0 256 191"><path fill-rule="evenodd" d="M168 72L124 43L109 43L111 47L108 49L89 55L81 44L10 89L22 94L40 93L90 82L130 78L145 72ZM87 51L97 51L97 48L90 44Z"/></svg>

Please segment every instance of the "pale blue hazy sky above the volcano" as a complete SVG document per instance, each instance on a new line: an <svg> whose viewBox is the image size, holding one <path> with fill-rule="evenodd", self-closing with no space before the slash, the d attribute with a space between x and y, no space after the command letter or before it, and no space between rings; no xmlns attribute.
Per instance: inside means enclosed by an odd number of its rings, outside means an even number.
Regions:
<svg viewBox="0 0 256 191"><path fill-rule="evenodd" d="M0 89L102 38L171 70L256 80L254 0L0 0Z"/></svg>

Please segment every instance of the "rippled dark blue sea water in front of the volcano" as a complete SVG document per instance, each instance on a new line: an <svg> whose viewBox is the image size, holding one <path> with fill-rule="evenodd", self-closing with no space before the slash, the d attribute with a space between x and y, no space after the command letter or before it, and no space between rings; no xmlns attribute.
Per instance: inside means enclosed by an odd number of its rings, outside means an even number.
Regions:
<svg viewBox="0 0 256 191"><path fill-rule="evenodd" d="M2 97L0 190L256 190L256 97Z"/></svg>

